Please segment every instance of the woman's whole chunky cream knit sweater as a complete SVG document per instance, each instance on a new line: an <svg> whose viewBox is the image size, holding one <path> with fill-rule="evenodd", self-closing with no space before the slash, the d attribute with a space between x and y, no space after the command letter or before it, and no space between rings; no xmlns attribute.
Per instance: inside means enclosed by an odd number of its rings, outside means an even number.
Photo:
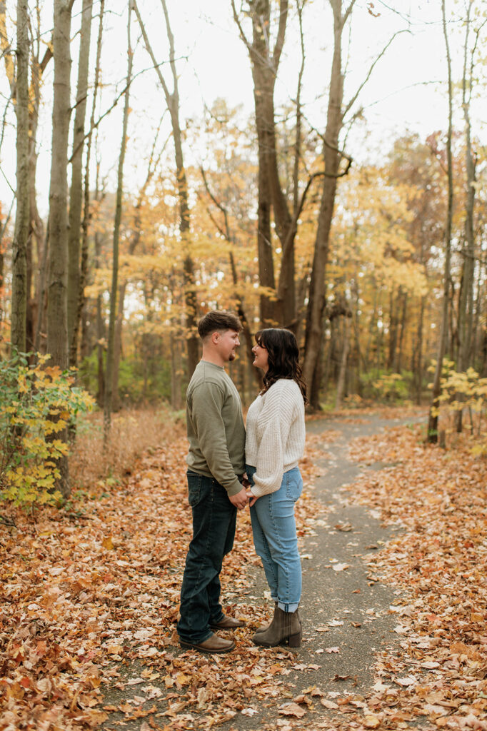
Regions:
<svg viewBox="0 0 487 731"><path fill-rule="evenodd" d="M279 379L247 413L245 461L256 468L256 497L279 490L284 472L298 466L304 449L304 403L298 384Z"/></svg>

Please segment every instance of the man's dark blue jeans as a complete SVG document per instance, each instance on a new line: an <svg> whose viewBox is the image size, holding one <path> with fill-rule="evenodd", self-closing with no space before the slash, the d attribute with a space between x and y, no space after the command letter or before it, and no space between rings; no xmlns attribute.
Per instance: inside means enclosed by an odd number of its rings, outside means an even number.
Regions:
<svg viewBox="0 0 487 731"><path fill-rule="evenodd" d="M187 471L193 538L181 586L181 640L199 644L211 637L210 622L223 618L220 579L223 557L233 548L237 509L212 477Z"/></svg>

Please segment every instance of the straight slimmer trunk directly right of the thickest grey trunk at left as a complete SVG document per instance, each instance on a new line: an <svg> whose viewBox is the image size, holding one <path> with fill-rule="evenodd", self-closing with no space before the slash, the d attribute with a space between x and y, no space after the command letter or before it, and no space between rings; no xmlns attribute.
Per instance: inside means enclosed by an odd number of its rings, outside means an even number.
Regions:
<svg viewBox="0 0 487 731"><path fill-rule="evenodd" d="M80 226L81 208L83 205L83 146L88 93L88 61L90 56L92 9L93 0L83 0L75 129L72 140L71 192L69 194L68 343L70 366L76 366L78 362L78 300L80 289Z"/></svg>

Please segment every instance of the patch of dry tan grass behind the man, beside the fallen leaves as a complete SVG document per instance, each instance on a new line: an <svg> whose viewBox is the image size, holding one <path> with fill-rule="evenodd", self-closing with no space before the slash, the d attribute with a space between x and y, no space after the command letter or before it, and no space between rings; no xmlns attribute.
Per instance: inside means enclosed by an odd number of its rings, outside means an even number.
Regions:
<svg viewBox="0 0 487 731"><path fill-rule="evenodd" d="M78 424L69 454L72 489L96 492L132 474L143 452L166 447L185 433L183 412L165 405L127 409L113 414L110 442L103 444L103 414L88 414Z"/></svg>

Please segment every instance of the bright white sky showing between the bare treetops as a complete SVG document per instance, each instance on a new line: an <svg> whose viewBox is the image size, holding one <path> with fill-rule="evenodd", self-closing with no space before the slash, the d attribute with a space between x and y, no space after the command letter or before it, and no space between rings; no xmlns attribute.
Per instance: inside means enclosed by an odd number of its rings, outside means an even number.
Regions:
<svg viewBox="0 0 487 731"><path fill-rule="evenodd" d="M275 1L275 0L273 0ZM237 7L241 0L235 0ZM31 5L33 3L31 2ZM242 3L245 5L245 3ZM451 5L451 0L448 2ZM7 2L10 12L15 13L15 4ZM222 96L230 105L243 105L249 115L253 110L252 75L249 58L238 37L232 17L230 0L167 0L180 73L181 124L188 117L201 117L204 105L210 106ZM291 2L292 7L294 4ZM124 0L106 0L105 40L103 46L102 109L110 106L115 88L122 88L126 73L126 18L127 3ZM403 32L374 70L374 75L360 94L360 104L365 110L366 122L352 130L347 141L347 152L355 159L365 156L380 160L387 154L394 137L404 132L418 132L425 137L437 129L446 129L446 62L445 44L442 37L440 0L374 0L373 12L368 12L369 2L357 0L352 14L350 37L344 37L344 61L347 59L345 99L349 99L360 86L373 59L396 31ZM140 12L153 43L159 61L167 58L167 41L160 0L139 0ZM73 72L72 86L75 91L78 40L76 31L80 23L81 0L75 0L72 22ZM99 10L95 0L94 12ZM42 2L45 40L50 37L52 26L52 0ZM461 74L461 28L449 15L450 42L455 61L456 79ZM303 86L305 114L322 132L325 127L327 88L331 67L332 20L327 0L309 0L304 12L306 70ZM15 32L10 26L12 33ZM295 96L296 78L300 63L298 39L293 30L297 27L295 11L288 21L287 41L284 46L279 80L276 84L276 100L286 103ZM97 22L92 30L92 45L97 36ZM132 43L139 37L134 18ZM15 45L15 39L13 39ZM350 54L348 50L350 48ZM186 57L187 60L183 57ZM148 69L151 61L143 48L137 47L135 71ZM163 67L164 69L164 67ZM170 76L167 80L171 83ZM39 127L39 207L42 213L48 207L48 180L50 170L50 99L52 96L53 64L45 75L45 107ZM2 95L8 96L5 80L0 81ZM3 117L5 96L0 98L0 114ZM462 128L458 100L457 122ZM165 110L162 90L156 75L149 70L137 77L131 91L132 114L130 117L129 149L127 154L127 186L145 175L146 165L140 164L148 154L159 118ZM105 172L116 173L118 148L121 136L122 102L100 128L102 139L102 166ZM474 133L483 138L486 129L482 120L487 120L487 102L481 96L474 106ZM89 115L89 102L88 102ZM166 115L167 116L167 115ZM15 130L10 114L10 128L7 128L4 145L0 151L0 200L10 204L10 192L5 177L15 187ZM169 122L167 120L167 126ZM164 138L164 134L162 138ZM186 151L188 156L191 151Z"/></svg>

